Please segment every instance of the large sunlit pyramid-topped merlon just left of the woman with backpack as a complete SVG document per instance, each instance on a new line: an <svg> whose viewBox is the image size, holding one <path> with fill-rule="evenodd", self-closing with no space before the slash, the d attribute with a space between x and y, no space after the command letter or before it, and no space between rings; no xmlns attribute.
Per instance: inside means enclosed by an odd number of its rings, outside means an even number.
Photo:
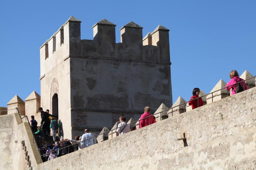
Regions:
<svg viewBox="0 0 256 170"><path fill-rule="evenodd" d="M220 81L213 87L211 92L225 88L226 85L227 85L227 83L224 80L220 79ZM207 104L212 103L212 100L214 102L214 101L223 99L223 98L227 97L227 95L229 96L229 94L230 94L230 92L227 93L226 89L222 89L220 91L214 92L213 94L209 94L208 96L206 96L206 102L207 102ZM213 96L213 99L212 99L212 96Z"/></svg>

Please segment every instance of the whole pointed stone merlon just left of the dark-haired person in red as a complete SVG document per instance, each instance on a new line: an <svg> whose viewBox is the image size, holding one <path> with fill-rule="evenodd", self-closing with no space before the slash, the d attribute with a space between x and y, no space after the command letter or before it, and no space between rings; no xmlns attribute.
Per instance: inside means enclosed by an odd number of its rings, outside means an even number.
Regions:
<svg viewBox="0 0 256 170"><path fill-rule="evenodd" d="M168 111L168 117L172 117L172 116L176 116L181 113L184 113L186 105L180 105L180 104L185 102L186 100L183 99L181 96L179 96L178 99L175 101L175 103L172 105L172 109Z"/></svg>

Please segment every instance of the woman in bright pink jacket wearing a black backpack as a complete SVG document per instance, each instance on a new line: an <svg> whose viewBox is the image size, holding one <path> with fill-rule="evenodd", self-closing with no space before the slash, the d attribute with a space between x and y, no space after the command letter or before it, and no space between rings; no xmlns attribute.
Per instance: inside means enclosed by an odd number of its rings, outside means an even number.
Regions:
<svg viewBox="0 0 256 170"><path fill-rule="evenodd" d="M228 82L228 84L226 85L226 90L229 91L232 89L232 93L231 95L236 94L236 83L243 81L243 78L239 78L238 72L236 70L232 70L229 74L229 77L231 78L231 80ZM243 81L240 83L242 85L242 87L244 88L244 90L248 90L248 87L246 85L246 83ZM231 85L231 86L229 86ZM228 87L229 86L229 87Z"/></svg>

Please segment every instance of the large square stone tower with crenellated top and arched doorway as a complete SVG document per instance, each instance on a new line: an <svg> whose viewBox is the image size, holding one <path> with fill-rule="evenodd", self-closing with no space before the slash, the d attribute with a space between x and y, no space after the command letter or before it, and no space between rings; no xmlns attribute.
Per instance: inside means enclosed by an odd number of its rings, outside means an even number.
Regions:
<svg viewBox="0 0 256 170"><path fill-rule="evenodd" d="M81 40L80 23L71 16L40 47L41 107L59 115L61 136L111 129L121 115L138 119L145 106L152 113L172 106L167 28L142 39L142 27L129 22L116 43L108 20L92 26L93 40Z"/></svg>

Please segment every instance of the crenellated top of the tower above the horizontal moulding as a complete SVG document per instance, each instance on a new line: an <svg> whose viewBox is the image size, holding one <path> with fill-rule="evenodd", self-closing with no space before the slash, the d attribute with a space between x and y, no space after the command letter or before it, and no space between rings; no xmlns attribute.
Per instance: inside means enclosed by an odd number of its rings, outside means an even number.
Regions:
<svg viewBox="0 0 256 170"><path fill-rule="evenodd" d="M41 76L69 57L171 64L170 30L164 26L142 38L143 27L131 21L120 29L121 42L116 43L116 25L108 20L92 26L93 40L81 40L80 23L71 16L40 47Z"/></svg>

